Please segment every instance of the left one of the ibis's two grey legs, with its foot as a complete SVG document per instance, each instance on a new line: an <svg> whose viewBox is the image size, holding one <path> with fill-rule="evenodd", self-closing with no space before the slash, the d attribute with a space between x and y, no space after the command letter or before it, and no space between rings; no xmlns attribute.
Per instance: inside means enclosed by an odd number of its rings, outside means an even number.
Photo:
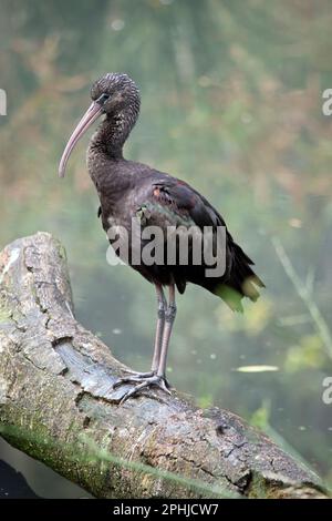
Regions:
<svg viewBox="0 0 332 521"><path fill-rule="evenodd" d="M137 371L132 371L127 369L125 372L128 372L132 376L127 378L122 378L115 384L115 387L120 387L122 384L131 384L131 382L141 381L144 378L149 378L156 375L158 370L162 343L163 343L163 333L164 333L164 326L165 326L165 313L167 309L167 300L164 295L163 286L160 284L155 284L155 288L156 288L157 302L158 302L158 318L157 318L154 356L153 356L151 371L137 372Z"/></svg>

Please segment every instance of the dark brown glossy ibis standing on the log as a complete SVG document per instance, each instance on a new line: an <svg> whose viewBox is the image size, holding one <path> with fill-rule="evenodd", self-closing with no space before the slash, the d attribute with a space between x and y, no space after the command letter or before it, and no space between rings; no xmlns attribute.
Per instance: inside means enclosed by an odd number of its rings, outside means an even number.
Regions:
<svg viewBox="0 0 332 521"><path fill-rule="evenodd" d="M195 284L220 297L232 310L242 311L242 298L255 302L264 287L253 272L255 263L234 241L224 218L206 197L185 181L123 156L124 144L138 119L139 109L138 88L126 73L104 74L93 83L91 104L71 134L59 165L59 175L63 177L76 143L102 118L86 154L87 171L100 198L98 216L116 255L125 257L127 264L155 286L157 298L151 370L137 372L128 369L126 376L114 384L114 388L123 385L128 387L121 402L149 394L153 388L172 392L166 377L166 361L177 310L176 292L184 294L187 284ZM133 233L134 223L139 226L141 233ZM167 243L168 228L173 229L169 236L174 236L178 229L184 232L193 226L203 235L205 228L208 228L209 239L204 244L210 249L208 253L217 255L217 259L224 258L222 273L219 276L208 275L207 263L204 259L200 264L194 263L193 255L187 258L187 263L180 263L178 238L174 243L176 255L172 263L165 254L167 244L162 262L147 262L142 252L143 247L152 246L152 237L143 236L148 226L162 229L158 243L162 246ZM220 242L221 247L216 247L219 228L224 229L224 241ZM110 235L110 231L114 229L115 233ZM120 247L124 246L125 241L128 243L126 254ZM194 235L186 244L193 253ZM137 252L139 262L134 263L133 257ZM166 288L168 299L165 297Z"/></svg>

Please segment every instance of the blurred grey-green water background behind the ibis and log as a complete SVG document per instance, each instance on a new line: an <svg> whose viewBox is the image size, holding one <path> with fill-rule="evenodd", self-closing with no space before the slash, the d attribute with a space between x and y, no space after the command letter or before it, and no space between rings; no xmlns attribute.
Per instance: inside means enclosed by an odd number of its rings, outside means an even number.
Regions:
<svg viewBox="0 0 332 521"><path fill-rule="evenodd" d="M154 289L106 263L87 137L66 178L56 174L91 83L128 73L142 113L126 157L205 194L267 285L243 316L188 287L169 379L199 406L258 425L331 484L332 406L322 401L332 376L332 116L322 114L322 92L332 88L331 1L0 0L0 8L8 93L0 246L38 229L55 234L77 318L121 360L148 367ZM0 451L41 496L85 494L4 442Z"/></svg>

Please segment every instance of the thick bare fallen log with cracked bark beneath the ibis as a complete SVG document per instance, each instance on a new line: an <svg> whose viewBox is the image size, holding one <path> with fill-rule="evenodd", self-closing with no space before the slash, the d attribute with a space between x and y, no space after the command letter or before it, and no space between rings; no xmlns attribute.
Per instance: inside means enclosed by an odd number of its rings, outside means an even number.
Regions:
<svg viewBox="0 0 332 521"><path fill-rule="evenodd" d="M98 498L323 498L319 478L236 415L156 390L123 405L125 369L74 318L50 234L0 254L0 432Z"/></svg>

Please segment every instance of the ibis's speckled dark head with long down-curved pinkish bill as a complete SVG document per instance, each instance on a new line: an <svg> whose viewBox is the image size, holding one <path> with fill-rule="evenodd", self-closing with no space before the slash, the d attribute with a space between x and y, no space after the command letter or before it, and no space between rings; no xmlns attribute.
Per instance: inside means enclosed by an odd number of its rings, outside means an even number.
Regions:
<svg viewBox="0 0 332 521"><path fill-rule="evenodd" d="M92 103L79 122L64 149L59 165L59 175L63 177L68 160L82 135L103 114L116 121L124 133L136 122L141 99L135 82L124 73L110 72L100 78L91 89Z"/></svg>

